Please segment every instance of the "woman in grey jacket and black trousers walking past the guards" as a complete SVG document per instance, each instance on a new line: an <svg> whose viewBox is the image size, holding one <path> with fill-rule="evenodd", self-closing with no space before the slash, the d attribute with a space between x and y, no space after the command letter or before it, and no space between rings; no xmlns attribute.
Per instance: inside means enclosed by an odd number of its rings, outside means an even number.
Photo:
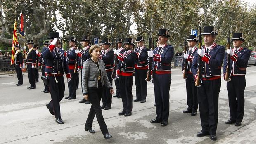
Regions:
<svg viewBox="0 0 256 144"><path fill-rule="evenodd" d="M91 58L84 62L82 70L83 97L86 100L90 99L92 104L85 123L85 131L89 130L90 133L95 133L95 131L92 130L92 121L96 114L96 118L104 138L109 139L112 136L109 134L107 125L102 116L100 99L102 96L102 87L104 85L109 88L111 94L114 94L114 90L112 85L109 83L104 63L101 59L99 59L100 46L92 45L89 49L89 54L91 55Z"/></svg>

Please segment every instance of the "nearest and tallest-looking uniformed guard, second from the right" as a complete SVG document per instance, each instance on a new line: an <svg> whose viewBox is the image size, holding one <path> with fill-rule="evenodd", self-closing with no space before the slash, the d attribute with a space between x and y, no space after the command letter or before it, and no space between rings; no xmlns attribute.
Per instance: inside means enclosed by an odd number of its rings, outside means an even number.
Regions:
<svg viewBox="0 0 256 144"><path fill-rule="evenodd" d="M197 96L201 118L201 132L197 137L210 135L211 140L216 140L216 129L218 124L218 98L221 85L221 66L224 59L225 47L214 43L216 38L215 27L205 26L204 43L202 49L197 49L192 62L192 73L197 79L198 57L201 56L201 86L197 87Z"/></svg>

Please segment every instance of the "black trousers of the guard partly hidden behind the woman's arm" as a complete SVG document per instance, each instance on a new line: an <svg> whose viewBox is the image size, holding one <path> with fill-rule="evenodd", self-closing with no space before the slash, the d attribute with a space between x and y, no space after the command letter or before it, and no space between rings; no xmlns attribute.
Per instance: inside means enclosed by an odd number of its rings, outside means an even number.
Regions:
<svg viewBox="0 0 256 144"><path fill-rule="evenodd" d="M111 78L112 71L107 72L107 77L109 78L109 82L111 85L113 85L113 79ZM106 106L110 106L112 104L112 94L109 91L109 88L107 88L105 85L102 87L102 104Z"/></svg>

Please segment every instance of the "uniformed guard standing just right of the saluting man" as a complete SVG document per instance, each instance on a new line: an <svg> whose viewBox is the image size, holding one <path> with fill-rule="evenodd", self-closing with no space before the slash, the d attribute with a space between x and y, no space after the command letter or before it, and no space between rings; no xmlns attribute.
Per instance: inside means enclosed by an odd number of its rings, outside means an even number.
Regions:
<svg viewBox="0 0 256 144"><path fill-rule="evenodd" d="M69 96L65 97L65 99L76 99L76 80L77 73L74 73L75 64L76 64L76 38L70 37L69 40L70 49L65 52L65 56L67 57L67 64L69 66L69 72L71 74L71 81L68 83L69 86Z"/></svg>

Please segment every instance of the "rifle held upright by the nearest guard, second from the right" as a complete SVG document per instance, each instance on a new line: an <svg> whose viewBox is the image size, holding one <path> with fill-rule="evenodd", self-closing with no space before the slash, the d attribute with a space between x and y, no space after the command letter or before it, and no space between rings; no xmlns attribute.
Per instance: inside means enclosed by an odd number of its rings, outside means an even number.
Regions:
<svg viewBox="0 0 256 144"><path fill-rule="evenodd" d="M202 40L201 40L201 27L199 28L199 42L198 42L198 49L202 49ZM197 80L195 86L200 87L201 86L201 69L202 69L202 57L198 55L198 61L197 65L199 65L197 70Z"/></svg>

